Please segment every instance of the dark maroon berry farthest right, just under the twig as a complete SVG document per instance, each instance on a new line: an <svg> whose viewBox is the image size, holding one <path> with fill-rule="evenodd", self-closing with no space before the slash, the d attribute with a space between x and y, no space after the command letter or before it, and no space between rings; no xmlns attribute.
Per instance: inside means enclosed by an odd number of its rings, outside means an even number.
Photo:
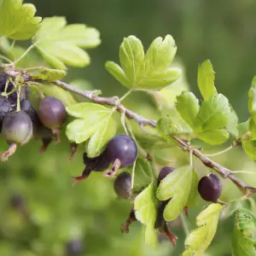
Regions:
<svg viewBox="0 0 256 256"><path fill-rule="evenodd" d="M203 200L216 202L221 195L222 185L218 177L210 173L205 177L201 177L198 183L198 192Z"/></svg>

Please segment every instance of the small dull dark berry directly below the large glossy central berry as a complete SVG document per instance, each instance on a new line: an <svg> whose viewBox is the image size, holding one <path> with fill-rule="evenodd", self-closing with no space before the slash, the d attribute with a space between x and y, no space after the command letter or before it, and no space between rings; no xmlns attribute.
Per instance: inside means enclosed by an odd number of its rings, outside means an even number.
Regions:
<svg viewBox="0 0 256 256"><path fill-rule="evenodd" d="M131 174L129 172L122 172L114 180L113 189L117 195L123 199L131 197Z"/></svg>

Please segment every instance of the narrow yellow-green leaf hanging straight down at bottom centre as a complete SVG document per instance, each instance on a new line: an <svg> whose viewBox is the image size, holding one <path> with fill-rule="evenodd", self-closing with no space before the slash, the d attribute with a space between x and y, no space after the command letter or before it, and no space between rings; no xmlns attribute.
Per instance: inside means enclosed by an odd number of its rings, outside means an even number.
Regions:
<svg viewBox="0 0 256 256"><path fill-rule="evenodd" d="M154 223L157 213L157 200L155 198L154 183L151 183L147 189L144 189L134 201L134 210L136 218L142 224L146 225L145 242L148 245L157 244L157 236L154 230Z"/></svg>

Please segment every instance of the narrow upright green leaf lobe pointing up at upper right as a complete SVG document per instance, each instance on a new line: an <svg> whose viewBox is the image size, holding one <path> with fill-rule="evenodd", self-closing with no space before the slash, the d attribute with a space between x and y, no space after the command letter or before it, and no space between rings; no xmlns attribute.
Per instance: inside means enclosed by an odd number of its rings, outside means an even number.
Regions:
<svg viewBox="0 0 256 256"><path fill-rule="evenodd" d="M214 86L214 71L211 61L204 61L198 68L197 84L201 91L201 96L207 102L213 95L217 94Z"/></svg>

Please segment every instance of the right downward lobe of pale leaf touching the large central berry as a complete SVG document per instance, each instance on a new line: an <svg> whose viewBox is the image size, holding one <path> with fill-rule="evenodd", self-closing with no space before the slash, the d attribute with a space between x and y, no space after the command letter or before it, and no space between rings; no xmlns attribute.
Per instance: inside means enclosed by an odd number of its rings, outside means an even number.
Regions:
<svg viewBox="0 0 256 256"><path fill-rule="evenodd" d="M86 152L88 157L96 157L102 153L104 146L115 136L116 123L113 120L112 113L109 113L97 128L97 131L90 137L87 143Z"/></svg>

